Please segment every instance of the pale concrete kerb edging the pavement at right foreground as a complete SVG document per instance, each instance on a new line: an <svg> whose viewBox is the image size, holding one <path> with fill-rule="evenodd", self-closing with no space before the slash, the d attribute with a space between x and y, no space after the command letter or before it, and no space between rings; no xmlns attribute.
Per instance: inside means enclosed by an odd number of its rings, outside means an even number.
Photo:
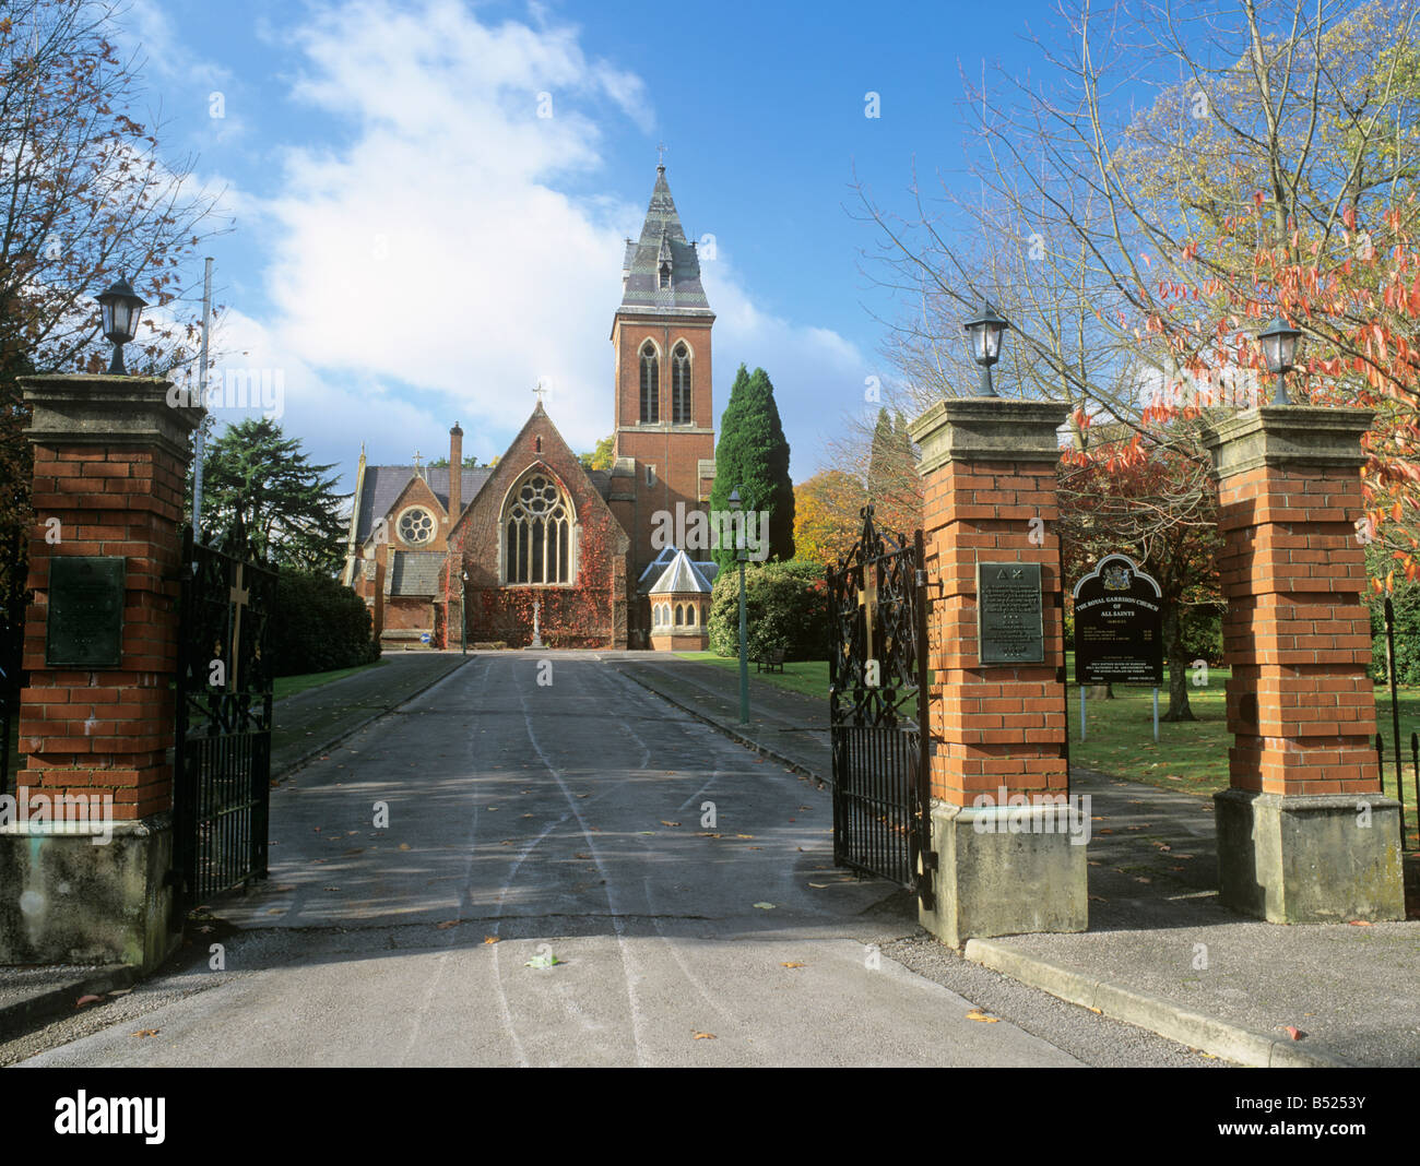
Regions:
<svg viewBox="0 0 1420 1166"><path fill-rule="evenodd" d="M968 939L964 955L973 963L1000 972L1030 987L1048 992L1112 1020L1122 1020L1251 1068L1353 1068L1350 1061L1323 1053L1304 1053L1291 1041L1254 1033L1224 1020L1180 1009L1156 996L1082 976L1035 956L1014 952L990 939Z"/></svg>

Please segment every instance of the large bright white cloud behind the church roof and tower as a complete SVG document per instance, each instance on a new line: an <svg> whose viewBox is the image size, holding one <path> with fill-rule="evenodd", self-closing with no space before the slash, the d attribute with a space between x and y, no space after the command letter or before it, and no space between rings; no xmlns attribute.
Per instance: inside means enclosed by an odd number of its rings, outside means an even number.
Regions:
<svg viewBox="0 0 1420 1166"><path fill-rule="evenodd" d="M321 9L291 37L305 55L295 96L348 135L283 155L278 193L260 200L274 228L270 322L244 326L288 369L284 424L322 461L354 461L365 438L375 461L403 462L454 420L470 454L500 454L538 380L574 448L611 428L622 238L645 201L564 189L602 170L608 119L649 129L653 115L638 77L532 16L535 27L481 24L452 0L365 0ZM547 95L552 116L540 118ZM861 397L852 346L758 311L723 248L707 291L717 413L740 360L770 370L801 443L825 400Z"/></svg>

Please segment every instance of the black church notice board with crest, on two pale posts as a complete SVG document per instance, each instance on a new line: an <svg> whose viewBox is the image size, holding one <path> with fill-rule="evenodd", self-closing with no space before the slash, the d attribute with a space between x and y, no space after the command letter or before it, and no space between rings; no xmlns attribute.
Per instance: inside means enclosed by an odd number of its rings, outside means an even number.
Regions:
<svg viewBox="0 0 1420 1166"><path fill-rule="evenodd" d="M1093 684L1153 685L1159 740L1163 684L1163 589L1126 555L1106 555L1075 584L1075 682L1079 735L1085 739L1085 688Z"/></svg>

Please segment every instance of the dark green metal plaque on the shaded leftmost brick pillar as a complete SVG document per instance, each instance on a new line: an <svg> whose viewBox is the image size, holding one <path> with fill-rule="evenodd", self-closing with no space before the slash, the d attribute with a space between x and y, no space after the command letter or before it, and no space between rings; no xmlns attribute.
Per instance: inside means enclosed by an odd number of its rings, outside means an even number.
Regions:
<svg viewBox="0 0 1420 1166"><path fill-rule="evenodd" d="M116 668L124 658L121 555L50 559L44 662L53 668Z"/></svg>

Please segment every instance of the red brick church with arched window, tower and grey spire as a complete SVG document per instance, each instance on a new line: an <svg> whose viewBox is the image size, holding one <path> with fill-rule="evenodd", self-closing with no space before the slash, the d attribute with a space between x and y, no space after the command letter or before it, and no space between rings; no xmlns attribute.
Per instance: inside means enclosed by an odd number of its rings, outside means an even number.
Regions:
<svg viewBox="0 0 1420 1166"><path fill-rule="evenodd" d="M704 647L714 563L657 546L714 479L710 329L696 244L656 167L640 238L626 240L612 318L612 468L585 470L542 406L497 465L366 465L344 582L386 645ZM462 468L463 467L463 468ZM657 515L660 516L657 519ZM674 529L687 529L676 523Z"/></svg>

